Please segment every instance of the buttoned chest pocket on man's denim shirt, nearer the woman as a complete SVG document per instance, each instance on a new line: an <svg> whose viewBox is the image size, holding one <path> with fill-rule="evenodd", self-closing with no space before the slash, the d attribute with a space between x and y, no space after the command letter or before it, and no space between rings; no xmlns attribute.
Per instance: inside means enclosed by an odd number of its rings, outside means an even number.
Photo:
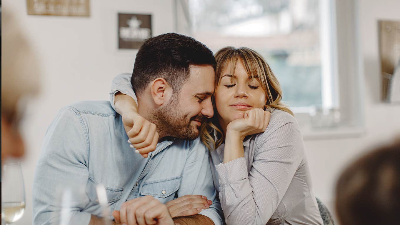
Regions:
<svg viewBox="0 0 400 225"><path fill-rule="evenodd" d="M154 197L166 198L178 191L181 177L182 176L146 181L143 183L140 195L152 195Z"/></svg>

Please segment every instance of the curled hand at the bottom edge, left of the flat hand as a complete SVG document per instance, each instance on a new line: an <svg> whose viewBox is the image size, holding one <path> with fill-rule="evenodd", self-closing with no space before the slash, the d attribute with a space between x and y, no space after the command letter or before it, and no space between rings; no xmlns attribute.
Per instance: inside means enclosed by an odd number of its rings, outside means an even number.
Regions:
<svg viewBox="0 0 400 225"><path fill-rule="evenodd" d="M112 216L117 223L126 225L174 224L167 206L151 195L122 203L120 211L114 210Z"/></svg>

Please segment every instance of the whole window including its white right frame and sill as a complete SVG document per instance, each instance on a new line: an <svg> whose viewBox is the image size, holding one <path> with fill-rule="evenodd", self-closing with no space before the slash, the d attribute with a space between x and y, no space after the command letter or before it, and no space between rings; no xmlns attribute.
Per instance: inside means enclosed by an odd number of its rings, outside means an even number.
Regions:
<svg viewBox="0 0 400 225"><path fill-rule="evenodd" d="M196 38L214 53L224 46L247 46L262 54L282 86L283 101L296 113L300 126L356 123L359 115L352 114L356 106L344 94L346 88L359 82L354 78L353 1L175 2L177 32ZM336 9L340 16L336 16ZM354 76L346 78L349 74ZM352 94L357 95L357 90L352 86Z"/></svg>

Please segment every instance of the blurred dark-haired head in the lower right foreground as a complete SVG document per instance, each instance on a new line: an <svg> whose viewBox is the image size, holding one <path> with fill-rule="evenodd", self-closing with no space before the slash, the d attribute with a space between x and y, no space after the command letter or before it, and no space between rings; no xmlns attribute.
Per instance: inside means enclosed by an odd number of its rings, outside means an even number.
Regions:
<svg viewBox="0 0 400 225"><path fill-rule="evenodd" d="M336 211L342 225L398 224L400 140L347 167L336 187Z"/></svg>

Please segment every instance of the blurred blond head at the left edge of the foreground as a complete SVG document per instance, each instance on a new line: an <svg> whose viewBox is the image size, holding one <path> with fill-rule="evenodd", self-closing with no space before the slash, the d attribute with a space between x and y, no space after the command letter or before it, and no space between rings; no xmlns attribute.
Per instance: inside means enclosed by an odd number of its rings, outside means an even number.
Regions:
<svg viewBox="0 0 400 225"><path fill-rule="evenodd" d="M24 145L18 122L18 101L38 90L38 63L17 18L2 8L1 21L1 157L21 157Z"/></svg>

